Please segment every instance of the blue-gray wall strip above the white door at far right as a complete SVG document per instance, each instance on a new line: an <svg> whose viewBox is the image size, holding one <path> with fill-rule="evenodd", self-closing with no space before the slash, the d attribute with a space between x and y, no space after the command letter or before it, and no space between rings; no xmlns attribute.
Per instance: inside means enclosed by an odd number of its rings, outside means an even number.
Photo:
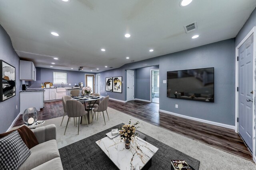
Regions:
<svg viewBox="0 0 256 170"><path fill-rule="evenodd" d="M235 47L244 39L244 37L251 31L251 29L256 26L256 8L253 10L252 14L244 23L242 29L240 29L239 33L236 35Z"/></svg>

